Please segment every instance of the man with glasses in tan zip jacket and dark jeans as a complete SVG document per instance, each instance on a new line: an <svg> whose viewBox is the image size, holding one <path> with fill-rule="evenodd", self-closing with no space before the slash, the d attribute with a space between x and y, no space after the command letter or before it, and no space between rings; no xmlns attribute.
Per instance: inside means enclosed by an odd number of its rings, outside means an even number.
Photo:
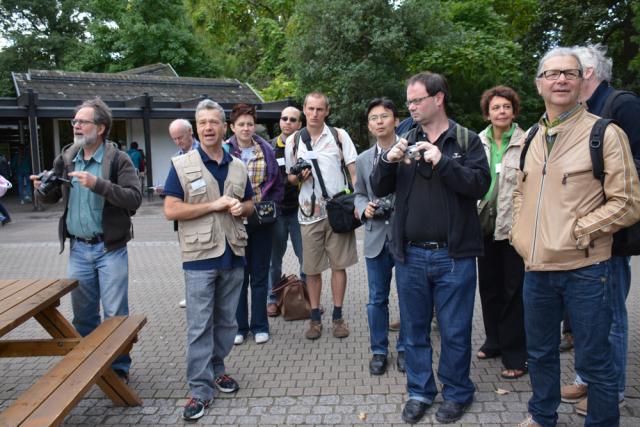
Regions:
<svg viewBox="0 0 640 427"><path fill-rule="evenodd" d="M521 425L554 426L560 404L560 321L569 311L576 371L589 384L586 426L619 424L611 328L612 235L640 217L638 175L627 137L609 125L604 182L590 155L598 117L578 104L583 67L572 50L540 60L536 86L546 112L514 192L511 241L525 262L524 309L533 395Z"/></svg>

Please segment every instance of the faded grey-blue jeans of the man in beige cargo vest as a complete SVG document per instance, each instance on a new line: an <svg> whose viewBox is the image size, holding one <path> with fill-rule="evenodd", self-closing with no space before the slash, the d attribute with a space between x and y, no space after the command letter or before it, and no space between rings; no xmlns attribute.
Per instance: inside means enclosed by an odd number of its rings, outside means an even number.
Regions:
<svg viewBox="0 0 640 427"><path fill-rule="evenodd" d="M236 307L243 268L185 270L187 381L192 397L213 398L213 381L225 373L224 358L238 330Z"/></svg>

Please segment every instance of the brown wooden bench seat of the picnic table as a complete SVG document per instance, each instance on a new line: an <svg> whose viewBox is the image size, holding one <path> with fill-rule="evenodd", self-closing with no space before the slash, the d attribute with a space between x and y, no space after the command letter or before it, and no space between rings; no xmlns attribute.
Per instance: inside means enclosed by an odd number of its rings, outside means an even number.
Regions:
<svg viewBox="0 0 640 427"><path fill-rule="evenodd" d="M57 426L93 384L116 406L141 405L110 366L129 352L146 322L143 315L105 320L0 414L0 426Z"/></svg>

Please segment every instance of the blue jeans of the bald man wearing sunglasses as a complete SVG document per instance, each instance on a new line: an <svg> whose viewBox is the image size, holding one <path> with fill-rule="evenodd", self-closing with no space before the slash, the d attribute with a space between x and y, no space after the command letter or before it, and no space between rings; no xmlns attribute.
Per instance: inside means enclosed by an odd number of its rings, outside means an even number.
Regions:
<svg viewBox="0 0 640 427"><path fill-rule="evenodd" d="M273 285L282 277L282 258L287 251L287 239L291 236L293 252L298 257L300 264L300 278L307 279L302 272L302 236L298 223L298 212L288 215L280 215L273 225L273 244L271 246L271 268L269 274L269 303L276 302L276 296L271 292Z"/></svg>

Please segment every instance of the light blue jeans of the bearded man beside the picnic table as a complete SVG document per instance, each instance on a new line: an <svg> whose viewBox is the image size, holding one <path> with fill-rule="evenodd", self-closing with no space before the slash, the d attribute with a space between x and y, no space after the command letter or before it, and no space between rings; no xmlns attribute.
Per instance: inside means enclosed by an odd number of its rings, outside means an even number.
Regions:
<svg viewBox="0 0 640 427"><path fill-rule="evenodd" d="M78 280L71 291L73 326L83 337L100 324L100 302L104 318L129 315L129 259L127 247L106 252L104 243L71 242L68 275ZM129 372L131 357L118 356L111 367Z"/></svg>

